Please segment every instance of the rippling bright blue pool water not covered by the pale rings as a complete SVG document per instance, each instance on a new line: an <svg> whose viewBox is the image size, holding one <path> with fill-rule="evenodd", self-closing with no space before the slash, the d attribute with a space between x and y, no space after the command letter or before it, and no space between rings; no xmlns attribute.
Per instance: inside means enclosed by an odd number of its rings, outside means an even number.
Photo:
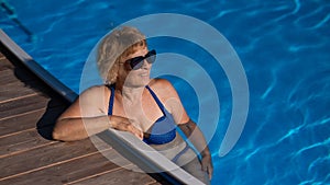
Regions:
<svg viewBox="0 0 330 185"><path fill-rule="evenodd" d="M231 43L249 81L245 128L224 157L218 151L232 109L226 73L191 43L163 37L151 41L151 47L194 58L217 79L221 116L210 142L216 166L212 184L330 184L330 1L6 3L7 9L0 8L1 28L76 92L90 50L114 26L165 12L207 22ZM191 86L166 78L196 119L198 101Z"/></svg>

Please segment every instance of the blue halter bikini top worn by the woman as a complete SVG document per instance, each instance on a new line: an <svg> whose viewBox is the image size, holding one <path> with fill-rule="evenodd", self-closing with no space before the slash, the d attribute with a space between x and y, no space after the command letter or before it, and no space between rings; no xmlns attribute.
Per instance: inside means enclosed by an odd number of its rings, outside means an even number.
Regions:
<svg viewBox="0 0 330 185"><path fill-rule="evenodd" d="M163 144L170 142L176 137L176 124L173 116L164 107L157 95L151 90L148 85L145 86L151 95L156 101L161 108L163 116L160 117L148 129L147 134L144 134L143 141L147 144ZM113 101L114 101L114 85L110 86L111 96L109 101L108 115L112 115Z"/></svg>

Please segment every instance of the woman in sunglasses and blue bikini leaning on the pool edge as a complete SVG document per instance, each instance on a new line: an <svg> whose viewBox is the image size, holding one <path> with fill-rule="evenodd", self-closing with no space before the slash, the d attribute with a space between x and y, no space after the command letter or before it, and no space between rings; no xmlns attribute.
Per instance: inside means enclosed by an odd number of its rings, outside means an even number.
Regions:
<svg viewBox="0 0 330 185"><path fill-rule="evenodd" d="M205 138L170 82L150 79L155 57L136 28L122 27L107 35L98 46L97 59L107 85L82 92L57 119L53 138L79 140L109 128L130 131L209 184L212 162ZM200 161L176 126L199 151Z"/></svg>

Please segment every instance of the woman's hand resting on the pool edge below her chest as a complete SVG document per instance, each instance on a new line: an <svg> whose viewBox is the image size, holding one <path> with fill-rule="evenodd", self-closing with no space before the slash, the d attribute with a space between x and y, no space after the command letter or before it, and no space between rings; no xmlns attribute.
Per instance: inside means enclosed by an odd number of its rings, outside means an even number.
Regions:
<svg viewBox="0 0 330 185"><path fill-rule="evenodd" d="M141 140L143 139L143 131L132 124L132 122L125 117L110 116L111 128L130 131Z"/></svg>

